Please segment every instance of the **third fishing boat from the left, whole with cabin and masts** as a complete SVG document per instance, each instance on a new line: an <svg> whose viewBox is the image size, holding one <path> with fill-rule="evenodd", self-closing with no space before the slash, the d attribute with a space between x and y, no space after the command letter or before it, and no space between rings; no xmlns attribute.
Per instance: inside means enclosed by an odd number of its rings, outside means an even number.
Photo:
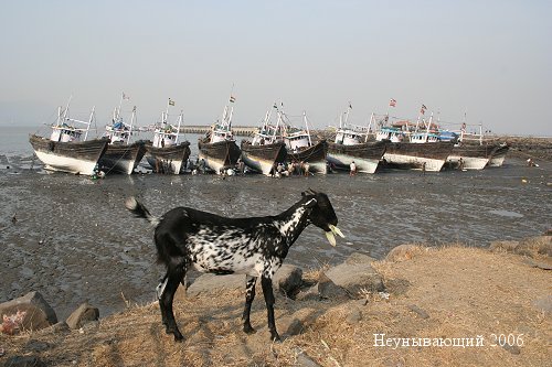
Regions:
<svg viewBox="0 0 552 367"><path fill-rule="evenodd" d="M153 127L153 141L146 142L146 160L156 173L180 174L184 172L190 158L190 142L180 141L180 127L183 111L180 111L177 123L169 123L169 106L174 102L169 99L167 110L161 112L161 120Z"/></svg>

